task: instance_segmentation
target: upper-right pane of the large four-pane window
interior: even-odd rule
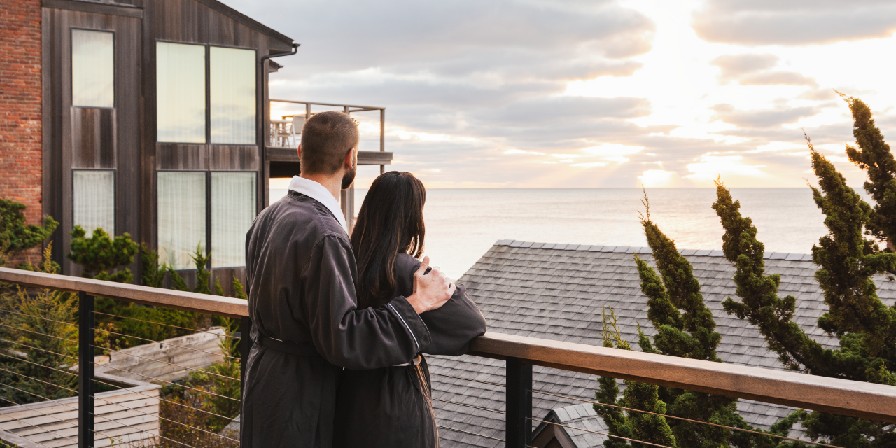
[[[255,144],[255,52],[211,47],[211,142]]]

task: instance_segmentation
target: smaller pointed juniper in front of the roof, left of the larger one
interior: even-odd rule
[[[634,255],[638,275],[641,279],[641,289],[643,294],[648,297],[647,316],[656,330],[656,335],[651,343],[639,327],[638,345],[642,351],[649,353],[721,362],[716,354],[721,336],[715,332],[716,324],[710,309],[703,302],[700,282],[694,277],[694,269],[691,263],[678,252],[675,242],[663,234],[659,227],[650,220],[650,204],[647,202],[646,194],[644,205],[647,208],[647,213],[646,216],[642,216],[642,226],[659,274],[640,256]],[[606,326],[605,323],[605,328]],[[606,334],[605,329],[604,345],[609,346]],[[618,338],[616,339],[618,340]],[[616,342],[616,346],[619,345]],[[600,378],[599,383],[599,401],[612,404],[610,400],[618,394],[616,381]],[[633,382],[626,382],[626,387],[630,387],[630,383]],[[659,393],[659,402],[663,403],[662,409],[666,411],[662,413],[677,417],[663,418],[668,422],[671,434],[674,435],[673,442],[677,446],[763,448],[777,446],[777,441],[767,435],[751,434],[687,421],[712,422],[720,426],[761,432],[761,430],[748,425],[744,418],[737,414],[736,399],[669,387],[650,387],[656,388]],[[633,404],[637,406],[638,403]],[[654,405],[654,407],[657,406]],[[635,409],[651,410],[644,407]],[[629,412],[626,416],[618,410],[609,412],[607,407],[599,405],[595,405],[595,410],[604,418],[611,431],[616,428],[617,433],[621,433],[621,429],[630,426],[628,420],[636,414]],[[771,434],[787,435],[793,425],[793,420],[791,418],[772,427]],[[657,435],[662,435],[662,433]],[[650,442],[647,439],[642,440]],[[623,445],[616,442],[606,446]]]

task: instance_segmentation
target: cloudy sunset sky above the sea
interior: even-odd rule
[[[804,132],[860,186],[835,90],[896,128],[892,0],[225,3],[302,44],[271,98],[385,107],[428,188],[805,187]]]

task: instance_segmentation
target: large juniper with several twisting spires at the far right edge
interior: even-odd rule
[[[856,107],[854,113],[865,110],[857,100],[850,106]],[[875,134],[868,130],[868,123],[873,124],[870,116],[857,115],[856,127],[861,130],[858,134]],[[860,145],[865,144],[868,151],[866,161],[870,162],[870,154],[875,154],[874,160],[880,162],[878,165],[867,163],[866,167],[886,165],[887,158],[880,153],[883,146],[875,143],[872,148],[867,144],[874,138],[866,143],[859,139]],[[896,271],[896,254],[878,249],[874,240],[863,236],[888,235],[886,223],[890,218],[884,217],[883,213],[890,212],[889,206],[879,202],[872,209],[846,185],[846,179],[833,164],[814,150],[808,137],[806,141],[812,168],[819,179],[819,186],[811,187],[814,202],[824,213],[824,224],[828,228],[828,234],[812,248],[813,262],[821,267],[815,273],[815,280],[829,309],[819,318],[818,326],[840,340],[840,349],[823,349],[792,322],[796,299],[778,297],[780,276],[764,274],[764,246],[756,238],[755,226],[749,218],[741,216],[740,203],[734,201],[728,189],[719,182],[713,209],[725,228],[723,251],[728,262],[737,267],[734,280],[737,296],[741,299],[737,302],[729,297],[723,306],[728,314],[736,314],[756,325],[769,349],[791,369],[805,370],[812,375],[896,385],[896,375],[893,374],[896,370],[896,308],[883,305],[873,280],[876,274]],[[889,159],[892,160],[892,156]],[[872,177],[872,185],[890,182],[882,181],[885,178],[883,170],[874,175],[869,171],[869,177]],[[886,198],[886,194],[882,197]],[[896,446],[896,433],[891,424],[802,410],[791,414],[790,418],[799,418],[812,440],[825,438],[831,444],[850,447]]]

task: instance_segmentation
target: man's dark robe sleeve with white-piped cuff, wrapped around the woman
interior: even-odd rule
[[[302,306],[317,352],[335,366],[363,370],[409,362],[431,343],[426,324],[405,297],[358,310],[354,255],[344,237],[327,235],[302,273]]]

